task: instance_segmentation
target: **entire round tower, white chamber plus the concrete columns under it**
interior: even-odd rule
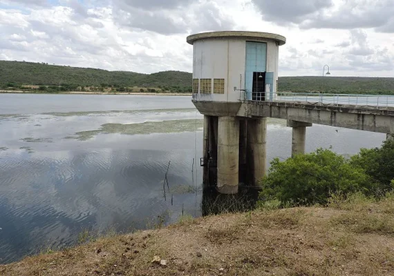
[[[204,181],[219,192],[256,186],[265,174],[265,118],[237,117],[243,101],[272,101],[279,46],[265,32],[205,32],[187,37],[194,47],[193,103],[204,119]],[[213,182],[213,183],[212,183]]]

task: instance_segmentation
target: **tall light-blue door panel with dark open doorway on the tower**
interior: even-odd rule
[[[245,68],[245,89],[247,92],[247,99],[252,100],[252,92],[265,91],[266,65],[267,43],[247,41]],[[259,94],[261,95],[261,93]]]

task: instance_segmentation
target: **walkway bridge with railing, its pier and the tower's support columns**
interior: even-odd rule
[[[266,170],[267,117],[288,121],[293,156],[305,152],[306,128],[312,124],[381,132],[388,139],[394,136],[394,96],[259,92],[252,98],[245,99],[243,92],[238,101],[209,101],[204,94],[193,95],[194,105],[205,115],[205,182],[222,177],[226,183],[235,176],[239,182],[257,184]]]

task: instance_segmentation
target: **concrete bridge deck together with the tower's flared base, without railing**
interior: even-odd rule
[[[193,102],[200,113],[210,116],[272,117],[340,128],[394,133],[394,106],[308,101]]]

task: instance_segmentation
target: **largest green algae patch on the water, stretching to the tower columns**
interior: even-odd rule
[[[142,124],[104,124],[98,130],[77,132],[73,137],[79,141],[86,141],[99,134],[147,135],[151,133],[191,132],[203,127],[203,120],[173,120],[148,121]],[[71,137],[66,137],[70,139]]]

